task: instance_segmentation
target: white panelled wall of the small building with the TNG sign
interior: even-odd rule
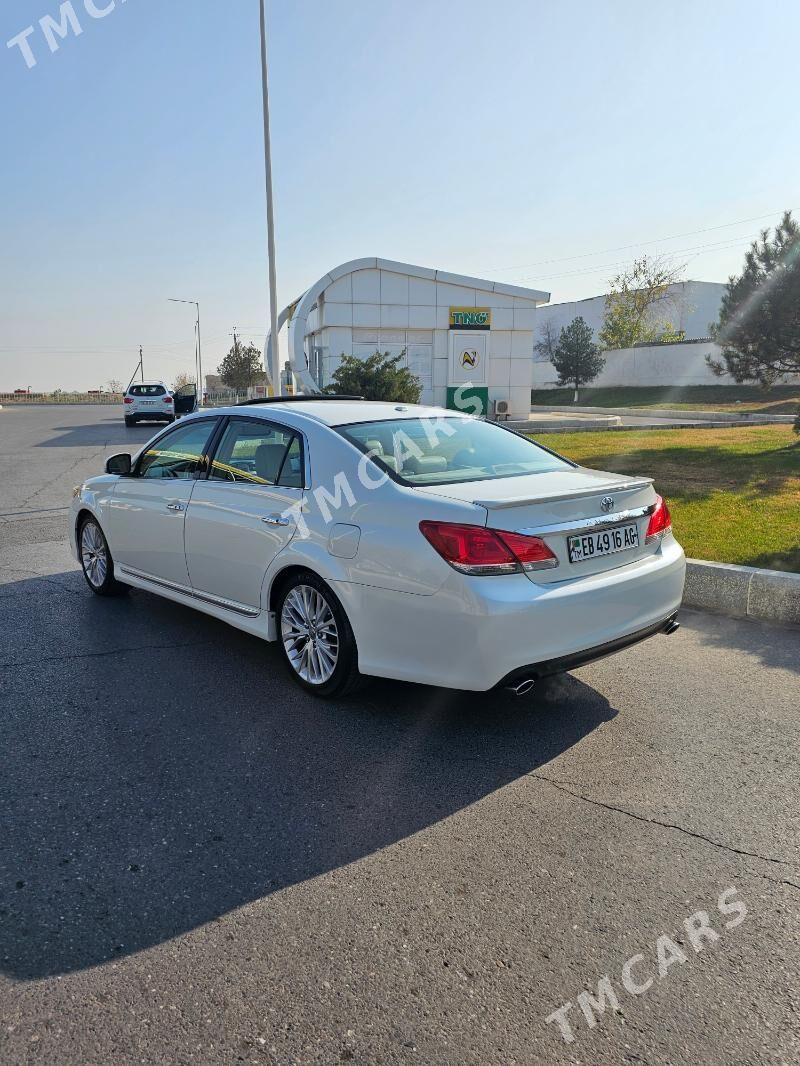
[[[423,384],[423,403],[443,405],[449,367],[449,309],[491,307],[486,384],[490,401],[509,400],[517,417],[530,410],[537,302],[476,287],[474,278],[410,276],[378,268],[355,270],[329,285],[308,316],[307,343],[322,350],[323,383],[340,356],[406,350]],[[471,281],[471,284],[470,284]],[[462,284],[459,284],[462,282]],[[518,290],[523,292],[525,290]]]

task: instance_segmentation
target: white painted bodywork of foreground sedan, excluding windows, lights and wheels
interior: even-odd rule
[[[276,579],[287,568],[311,570],[343,607],[362,674],[453,689],[514,685],[674,627],[684,552],[671,529],[645,537],[660,499],[650,479],[570,465],[497,480],[409,486],[387,477],[334,429],[464,417],[435,407],[309,398],[217,408],[181,419],[178,426],[236,417],[266,419],[302,436],[303,487],[92,478],[75,490],[71,503],[76,558],[77,532],[89,513],[125,584],[267,641],[279,635]],[[604,514],[603,501],[610,506],[609,499],[612,513]],[[531,572],[463,574],[434,550],[420,521],[541,536],[556,562]],[[569,535],[622,522],[637,526],[637,547],[570,562]]]

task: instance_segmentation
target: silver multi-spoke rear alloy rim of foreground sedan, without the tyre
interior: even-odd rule
[[[339,660],[339,631],[325,597],[295,585],[281,610],[281,639],[292,668],[309,684],[330,680]]]

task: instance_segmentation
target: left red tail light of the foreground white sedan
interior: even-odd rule
[[[558,559],[538,536],[457,522],[420,522],[419,531],[462,574],[523,574],[558,566]]]

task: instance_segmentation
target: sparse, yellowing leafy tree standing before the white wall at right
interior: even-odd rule
[[[683,340],[672,323],[659,317],[672,306],[670,286],[681,280],[683,268],[665,259],[642,256],[634,265],[609,282],[603,327],[597,335],[601,346],[633,348],[654,341]]]

